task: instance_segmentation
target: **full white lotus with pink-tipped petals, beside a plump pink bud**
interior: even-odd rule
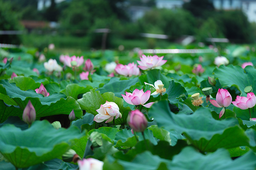
[[[122,118],[122,114],[119,112],[119,107],[114,102],[106,101],[105,104],[101,105],[99,109],[96,110],[98,114],[94,117],[95,122],[103,122],[106,119],[105,123],[113,121],[114,116],[117,118]]]

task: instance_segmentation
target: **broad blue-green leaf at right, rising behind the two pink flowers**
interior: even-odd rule
[[[242,96],[246,96],[244,92],[246,86],[251,86],[253,92],[256,93],[255,74],[256,69],[252,66],[246,67],[245,70],[240,66],[233,65],[221,65],[214,69],[214,76],[219,79],[223,88],[234,86],[241,92]]]

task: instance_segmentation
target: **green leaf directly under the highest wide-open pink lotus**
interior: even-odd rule
[[[170,77],[166,77],[163,75],[160,70],[154,69],[146,71],[146,75],[142,75],[139,77],[139,84],[145,85],[144,82],[154,85],[155,81],[161,80],[164,84],[164,88],[169,87],[169,81],[171,80]]]

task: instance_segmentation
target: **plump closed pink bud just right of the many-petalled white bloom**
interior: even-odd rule
[[[145,115],[139,110],[131,111],[127,117],[127,122],[135,132],[144,132],[148,126]]]

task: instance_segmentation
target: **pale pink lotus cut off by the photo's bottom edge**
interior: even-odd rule
[[[79,170],[102,170],[104,162],[94,158],[87,158],[77,161]]]

